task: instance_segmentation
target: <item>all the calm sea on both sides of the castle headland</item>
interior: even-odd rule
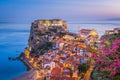
[[[18,57],[27,47],[31,23],[0,23],[0,80],[11,80],[26,72],[26,66]],[[99,36],[105,30],[120,28],[120,21],[69,21],[68,29],[78,33],[78,29],[95,29]]]

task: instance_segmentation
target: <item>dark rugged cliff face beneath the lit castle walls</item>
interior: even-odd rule
[[[31,25],[28,48],[31,53],[43,54],[52,48],[52,39],[62,37],[67,33],[68,30],[64,26],[45,26],[40,24],[39,20],[34,21]]]

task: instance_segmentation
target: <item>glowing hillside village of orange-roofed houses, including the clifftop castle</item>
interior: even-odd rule
[[[101,41],[104,39],[99,38],[96,30],[79,29],[78,34],[71,33],[67,30],[67,23],[59,19],[37,20],[32,25],[34,25],[32,26],[34,28],[32,29],[33,33],[37,29],[48,30],[49,26],[63,27],[65,31],[62,30],[64,33],[62,36],[55,33],[49,33],[51,35],[41,33],[41,36],[45,38],[43,38],[41,44],[48,40],[51,43],[48,45],[48,47],[50,46],[49,49],[37,48],[40,45],[40,37],[30,34],[28,47],[22,53],[21,59],[27,63],[27,66],[31,65],[31,70],[36,70],[37,75],[33,76],[33,79],[28,75],[28,78],[32,80],[90,80],[90,74],[94,67],[92,54],[94,51],[101,49]],[[119,31],[120,29],[116,28],[113,31],[106,31],[105,35],[111,35]],[[61,31],[57,30],[56,33],[58,32]],[[35,47],[36,53],[35,50],[32,51]],[[44,52],[44,54],[41,54],[41,52]],[[86,70],[81,71],[80,65],[85,63],[87,64]]]

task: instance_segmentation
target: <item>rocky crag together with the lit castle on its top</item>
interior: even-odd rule
[[[69,33],[67,23],[61,19],[39,19],[32,22],[28,49],[40,53],[39,49],[49,44],[53,38]],[[51,43],[50,43],[51,44]]]

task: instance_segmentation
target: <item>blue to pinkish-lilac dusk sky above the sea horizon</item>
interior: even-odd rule
[[[120,18],[120,0],[0,0],[0,21]]]

